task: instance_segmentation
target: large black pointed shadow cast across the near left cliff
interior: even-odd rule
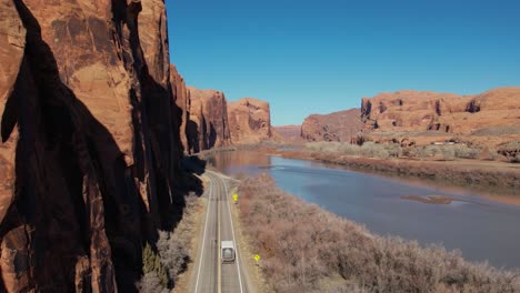
[[[61,81],[38,20],[22,1],[14,3],[27,44],[9,97],[14,107],[4,113],[7,124],[18,124],[19,141],[14,196],[0,238],[24,256],[2,263],[17,272],[2,285],[104,292],[116,281],[120,291],[134,292],[147,212],[132,168],[108,129]],[[2,129],[2,140],[11,131]]]

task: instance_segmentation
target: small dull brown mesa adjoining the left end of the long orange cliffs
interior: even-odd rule
[[[301,137],[307,141],[350,142],[362,128],[359,110],[312,114],[301,124]]]

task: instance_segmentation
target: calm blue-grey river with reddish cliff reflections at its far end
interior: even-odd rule
[[[448,250],[461,250],[468,260],[520,267],[518,205],[496,202],[464,189],[331,169],[318,162],[253,151],[218,153],[210,163],[230,175],[269,173],[284,191],[364,224],[378,234],[399,235],[422,244],[442,243]]]

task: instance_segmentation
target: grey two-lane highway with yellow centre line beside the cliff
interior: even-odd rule
[[[209,181],[203,195],[208,199],[208,205],[191,282],[192,292],[251,292],[244,277],[240,245],[231,219],[231,181],[211,171],[207,171],[204,176]],[[234,263],[222,264],[220,259],[220,243],[226,240],[234,242]]]

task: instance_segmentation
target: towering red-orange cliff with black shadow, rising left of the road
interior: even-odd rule
[[[0,0],[0,292],[134,292],[182,209],[163,1]]]

